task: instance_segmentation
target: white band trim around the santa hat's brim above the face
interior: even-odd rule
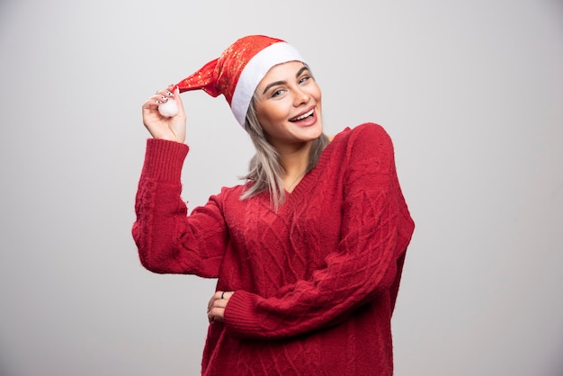
[[[288,61],[302,61],[305,63],[297,49],[289,43],[281,41],[261,50],[246,63],[245,68],[238,77],[237,87],[235,87],[231,103],[231,111],[243,128],[246,129],[246,112],[248,111],[250,100],[255,94],[256,86],[260,84],[260,81],[266,76],[271,67],[287,63]]]

